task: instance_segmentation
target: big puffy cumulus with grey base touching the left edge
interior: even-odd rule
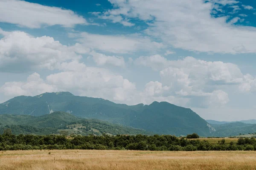
[[[5,32],[0,39],[0,70],[29,71],[41,68],[55,69],[62,62],[81,59],[77,53],[86,50],[79,44],[62,45],[52,37],[32,37],[20,31]]]

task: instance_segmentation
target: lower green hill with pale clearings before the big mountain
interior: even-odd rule
[[[71,133],[81,135],[102,135],[103,133],[111,135],[153,134],[142,129],[114,125],[97,119],[82,119],[65,112],[54,112],[38,117],[29,115],[0,115],[0,133],[3,133],[3,130],[6,128],[11,128],[12,132],[16,135],[58,133],[66,135]]]

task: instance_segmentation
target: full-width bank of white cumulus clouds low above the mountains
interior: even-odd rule
[[[107,63],[104,59],[102,61]],[[139,57],[133,62],[159,71],[161,80],[150,81],[138,91],[134,82],[119,74],[105,68],[87,67],[74,60],[57,65],[61,72],[50,74],[46,79],[34,73],[24,82],[6,82],[0,87],[0,92],[13,97],[70,91],[129,105],[167,101],[185,107],[207,108],[229,102],[227,92],[222,89],[224,85],[237,85],[241,91],[256,89],[255,78],[244,76],[231,63],[206,62],[193,57],[168,60],[159,55]]]

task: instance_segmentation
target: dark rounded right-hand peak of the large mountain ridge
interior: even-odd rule
[[[148,123],[150,122],[150,123]],[[156,133],[186,135],[198,133],[209,136],[207,122],[189,108],[182,108],[168,102],[153,102],[132,119],[131,126]]]

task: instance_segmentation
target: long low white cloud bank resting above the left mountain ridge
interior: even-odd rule
[[[81,71],[63,71],[41,79],[38,73],[23,82],[6,82],[0,93],[14,97],[35,96],[45,92],[70,91],[81,96],[100,97],[119,103],[134,104],[136,86],[128,79],[103,68],[86,67]]]

